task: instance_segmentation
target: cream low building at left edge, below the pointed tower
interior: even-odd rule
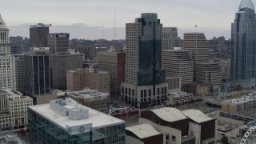
[[[2,89],[0,91],[0,130],[10,130],[26,127],[27,107],[33,105],[32,98],[22,96],[17,91]]]

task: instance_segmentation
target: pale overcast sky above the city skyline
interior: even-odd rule
[[[252,0],[255,4],[256,0]],[[10,36],[30,37],[30,26],[52,24],[50,33],[70,38],[125,39],[126,23],[142,13],[157,13],[165,27],[178,27],[178,36],[197,31],[230,38],[230,26],[241,0],[7,0],[0,14]],[[115,18],[114,18],[115,17]],[[114,21],[115,19],[115,21]],[[114,37],[114,24],[116,27]],[[104,27],[104,28],[102,28]]]

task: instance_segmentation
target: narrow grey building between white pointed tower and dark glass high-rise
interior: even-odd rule
[[[16,90],[25,90],[25,55],[15,54]]]

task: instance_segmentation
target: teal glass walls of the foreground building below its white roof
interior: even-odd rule
[[[28,109],[30,143],[50,144],[125,144],[125,124],[91,128],[92,124],[64,130],[58,124]]]

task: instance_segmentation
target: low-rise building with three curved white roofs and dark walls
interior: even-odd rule
[[[180,111],[172,107],[145,110],[138,118],[137,126],[126,127],[126,142],[211,144],[216,142],[215,126],[215,119],[199,110]],[[154,142],[156,139],[159,141]]]

